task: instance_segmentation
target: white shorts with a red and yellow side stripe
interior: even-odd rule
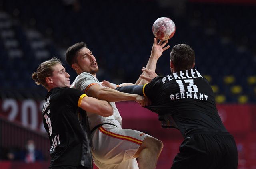
[[[116,124],[115,124],[116,125]],[[92,133],[92,157],[99,169],[138,169],[133,157],[149,136],[143,132],[104,124]]]

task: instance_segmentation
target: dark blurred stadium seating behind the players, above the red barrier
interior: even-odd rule
[[[211,85],[226,96],[225,102],[238,102],[232,98],[231,85],[226,87],[230,82],[222,81],[226,77],[234,77],[234,85],[245,89],[241,94],[248,97],[247,102],[255,101],[250,94],[252,85],[246,82],[256,71],[255,23],[251,18],[255,6],[186,2],[182,16],[172,8],[156,6],[155,1],[95,0],[81,1],[80,10],[74,10],[61,0],[4,0],[0,13],[0,78],[5,82],[1,96],[18,97],[17,92],[25,98],[44,96],[38,94],[37,89],[42,88],[34,85],[31,73],[41,61],[53,56],[64,61],[64,51],[79,41],[88,43],[94,52],[101,70],[98,79],[135,82],[150,54],[152,23],[167,16],[176,24],[169,44],[187,43],[194,48],[196,69],[211,77]],[[159,60],[156,71],[160,75],[170,72],[168,56],[169,51]],[[74,71],[66,67],[74,79]],[[14,88],[17,91],[12,95]]]

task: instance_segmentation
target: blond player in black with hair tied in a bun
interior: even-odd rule
[[[103,100],[87,97],[70,87],[70,75],[58,58],[41,63],[32,78],[43,85],[48,94],[42,116],[51,149],[50,169],[90,169],[90,129],[85,111],[101,116],[113,114],[113,108]]]

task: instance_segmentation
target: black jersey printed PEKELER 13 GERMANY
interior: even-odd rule
[[[156,77],[143,93],[152,100],[147,108],[158,113],[165,128],[178,128],[183,136],[197,128],[226,132],[212,88],[196,69]]]

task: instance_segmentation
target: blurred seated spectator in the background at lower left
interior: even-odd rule
[[[18,158],[26,163],[44,160],[42,152],[36,149],[35,141],[32,139],[26,141],[25,150],[20,151]]]

